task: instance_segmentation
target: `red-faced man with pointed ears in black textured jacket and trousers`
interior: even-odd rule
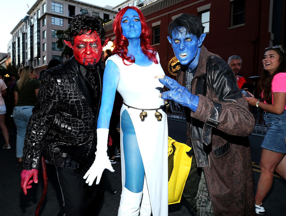
[[[104,71],[100,58],[108,41],[104,36],[97,17],[88,13],[74,16],[70,41],[65,41],[74,56],[42,74],[27,127],[21,188],[27,194],[32,182],[38,183],[44,156],[56,166],[63,199],[59,215],[95,215],[102,200],[103,180],[90,187],[83,175],[95,158]]]

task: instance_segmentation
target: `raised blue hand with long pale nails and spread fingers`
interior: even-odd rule
[[[197,95],[190,93],[186,87],[181,86],[170,77],[165,76],[164,78],[159,79],[159,81],[170,89],[170,91],[163,92],[161,98],[173,100],[190,108],[194,112],[197,110],[199,104],[199,97]]]

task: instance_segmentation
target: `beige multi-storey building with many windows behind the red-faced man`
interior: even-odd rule
[[[45,70],[49,61],[66,59],[57,48],[57,30],[66,30],[74,15],[89,12],[100,18],[114,19],[117,10],[75,0],[38,0],[27,15],[15,26],[12,38],[12,64],[31,65],[37,74]]]

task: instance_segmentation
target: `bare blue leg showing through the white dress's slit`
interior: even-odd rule
[[[121,128],[125,160],[125,187],[131,192],[138,193],[143,190],[145,171],[135,130],[127,110],[122,112]]]

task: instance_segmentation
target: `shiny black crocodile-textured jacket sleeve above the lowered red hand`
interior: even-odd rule
[[[44,73],[41,78],[41,88],[25,136],[24,170],[38,169],[44,149],[44,137],[52,124],[59,100],[59,88],[55,77],[50,73]]]

